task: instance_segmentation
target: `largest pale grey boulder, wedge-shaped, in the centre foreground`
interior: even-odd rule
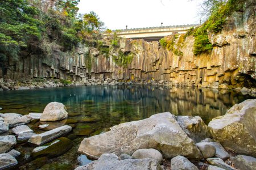
[[[200,150],[180,128],[171,113],[159,113],[141,121],[127,122],[111,128],[111,131],[85,138],[79,152],[92,158],[106,153],[132,155],[141,148],[155,148],[165,158],[183,155],[200,159]]]

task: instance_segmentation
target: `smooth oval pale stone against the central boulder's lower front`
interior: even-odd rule
[[[163,156],[162,154],[153,148],[148,148],[148,149],[139,149],[131,155],[131,158],[133,159],[144,159],[144,158],[151,158],[156,160],[159,163],[162,163],[163,161]]]

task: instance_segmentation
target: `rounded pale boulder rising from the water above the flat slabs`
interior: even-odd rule
[[[62,103],[51,102],[44,108],[40,121],[59,121],[68,117],[66,107]]]

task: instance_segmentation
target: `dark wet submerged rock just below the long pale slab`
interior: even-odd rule
[[[43,146],[34,148],[34,150],[32,151],[32,157],[37,158],[37,157],[46,156],[47,158],[54,158],[64,154],[72,146],[73,146],[73,143],[70,139],[62,137],[62,138],[56,139],[53,142],[46,143]]]

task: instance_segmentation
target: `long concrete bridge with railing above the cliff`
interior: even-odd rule
[[[126,39],[144,39],[145,41],[159,41],[164,36],[171,35],[172,32],[185,33],[188,31],[189,28],[197,26],[199,26],[199,24],[121,29],[121,31],[117,32],[117,35]]]

